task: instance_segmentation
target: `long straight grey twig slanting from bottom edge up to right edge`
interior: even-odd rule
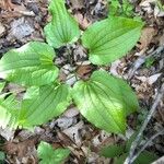
[[[143,122],[143,125],[141,126],[141,129],[140,129],[138,136],[136,137],[136,140],[131,143],[131,148],[130,148],[130,151],[129,151],[129,155],[128,155],[128,157],[126,159],[126,161],[125,161],[124,164],[131,164],[131,163],[132,163],[131,160],[132,160],[133,154],[134,154],[134,151],[136,151],[136,149],[137,149],[137,147],[138,147],[138,144],[139,144],[139,142],[140,142],[141,136],[142,136],[144,129],[147,128],[147,125],[148,125],[148,122],[150,121],[151,117],[153,116],[153,114],[154,114],[154,112],[155,112],[155,109],[156,109],[156,107],[157,107],[157,105],[159,105],[161,98],[163,97],[163,95],[164,95],[164,83],[162,84],[162,87],[161,87],[159,94],[157,94],[156,97],[155,97],[155,101],[154,101],[154,103],[153,103],[153,105],[152,105],[152,108],[150,109],[150,112],[149,112],[149,114],[148,114],[147,119],[144,120],[144,122]]]

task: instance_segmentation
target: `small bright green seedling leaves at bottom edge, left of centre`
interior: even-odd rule
[[[49,143],[40,142],[37,148],[37,154],[39,164],[62,164],[63,161],[69,156],[69,149],[52,149]]]

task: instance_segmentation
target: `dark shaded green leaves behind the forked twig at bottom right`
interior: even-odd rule
[[[137,133],[132,134],[131,138],[124,144],[112,144],[104,147],[101,150],[99,155],[114,159],[115,164],[124,164],[136,136]],[[157,155],[149,151],[143,151],[133,162],[133,164],[150,164],[155,160],[157,160]]]

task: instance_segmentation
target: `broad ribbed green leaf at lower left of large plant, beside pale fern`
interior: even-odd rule
[[[70,87],[66,84],[32,87],[22,102],[20,126],[33,128],[62,114],[70,105]]]

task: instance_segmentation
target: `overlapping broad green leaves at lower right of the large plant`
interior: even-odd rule
[[[105,71],[95,71],[89,81],[77,82],[72,97],[89,121],[108,132],[125,132],[126,115],[138,108],[131,89]]]

